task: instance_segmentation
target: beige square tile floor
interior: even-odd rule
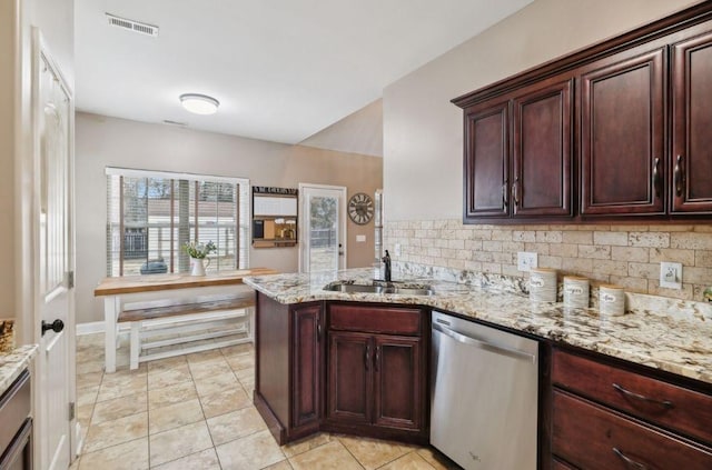
[[[254,364],[240,344],[103,373],[103,334],[78,337],[85,443],[72,469],[456,468],[428,448],[340,434],[279,447],[253,406]]]

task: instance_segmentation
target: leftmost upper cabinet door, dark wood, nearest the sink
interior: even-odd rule
[[[465,221],[508,214],[508,101],[465,111]]]

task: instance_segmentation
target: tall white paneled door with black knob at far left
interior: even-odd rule
[[[40,468],[67,469],[70,460],[70,378],[73,370],[71,96],[36,32],[33,120],[37,196],[38,393],[36,427]]]

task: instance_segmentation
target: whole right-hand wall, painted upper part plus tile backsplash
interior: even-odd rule
[[[518,276],[540,266],[630,290],[702,300],[712,284],[709,226],[464,226],[462,110],[451,99],[698,1],[536,0],[392,83],[384,92],[386,248],[399,260]],[[394,253],[395,250],[390,252]],[[660,261],[683,262],[683,290],[661,291]]]

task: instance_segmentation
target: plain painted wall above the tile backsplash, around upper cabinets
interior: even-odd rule
[[[462,217],[462,110],[451,99],[693,3],[536,0],[388,86],[383,99],[387,219]]]

